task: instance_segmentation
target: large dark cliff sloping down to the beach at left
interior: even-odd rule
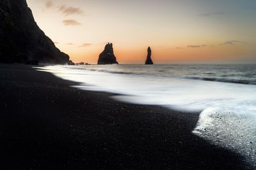
[[[26,0],[0,0],[0,62],[66,64],[61,52],[36,24]]]

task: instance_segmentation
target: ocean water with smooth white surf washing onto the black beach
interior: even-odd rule
[[[256,65],[156,64],[36,67],[118,101],[200,111],[193,133],[256,168]]]

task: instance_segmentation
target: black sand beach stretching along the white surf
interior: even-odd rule
[[[245,169],[191,133],[199,113],[125,104],[30,66],[0,65],[0,169]]]

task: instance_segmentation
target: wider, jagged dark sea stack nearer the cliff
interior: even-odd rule
[[[118,64],[114,55],[113,44],[108,43],[105,49],[100,53],[98,64]]]

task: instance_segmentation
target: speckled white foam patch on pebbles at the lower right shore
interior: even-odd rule
[[[256,168],[256,119],[254,115],[207,108],[200,114],[193,133],[213,144],[243,155]]]

